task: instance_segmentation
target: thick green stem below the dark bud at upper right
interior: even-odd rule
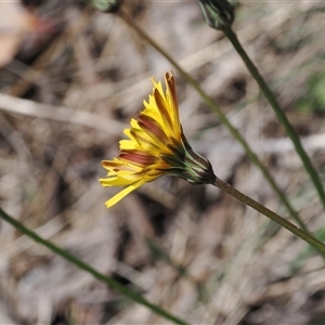
[[[233,29],[231,27],[225,26],[225,27],[222,28],[222,30],[223,30],[224,35],[226,36],[226,38],[231,41],[231,43],[233,44],[233,47],[235,48],[237,53],[243,58],[243,61],[246,64],[249,73],[255,78],[255,80],[258,82],[258,84],[259,84],[261,91],[263,92],[265,99],[268,100],[270,105],[273,107],[274,113],[276,115],[276,118],[282,123],[282,126],[285,128],[288,136],[291,139],[291,141],[292,141],[292,143],[296,147],[296,152],[300,156],[300,158],[302,160],[302,164],[303,164],[307,172],[309,173],[309,176],[310,176],[310,178],[311,178],[311,180],[312,180],[312,182],[313,182],[313,184],[314,184],[314,186],[315,186],[315,188],[318,193],[320,199],[321,199],[321,202],[323,204],[323,207],[324,207],[324,210],[325,210],[325,192],[324,192],[321,179],[318,177],[318,173],[315,170],[315,168],[313,167],[313,165],[312,165],[309,156],[307,155],[306,151],[303,150],[303,146],[301,145],[300,139],[299,139],[298,134],[296,133],[295,129],[292,128],[291,123],[289,122],[285,112],[281,108],[277,100],[275,99],[274,94],[272,93],[269,86],[264,81],[263,77],[260,75],[258,68],[255,66],[252,61],[247,55],[246,51],[242,47],[242,44],[238,41],[238,38],[237,38],[236,34],[233,31]]]

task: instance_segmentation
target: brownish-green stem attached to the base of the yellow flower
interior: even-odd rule
[[[273,220],[277,224],[280,224],[281,226],[287,229],[289,232],[291,232],[296,236],[298,236],[301,239],[303,239],[304,242],[309,243],[311,246],[313,246],[315,249],[317,249],[322,253],[323,257],[325,257],[325,245],[322,242],[320,242],[318,239],[316,239],[315,237],[313,237],[312,235],[310,235],[308,232],[297,227],[291,222],[287,221],[286,219],[282,218],[281,216],[276,214],[275,212],[265,208],[264,206],[262,206],[255,199],[246,196],[245,194],[237,191],[236,188],[234,188],[230,184],[223,182],[222,180],[220,180],[217,177],[216,177],[216,182],[213,183],[213,185],[217,186],[218,188],[220,188],[221,191],[230,194],[231,196],[237,198],[245,205],[250,206],[258,212],[270,218],[271,220]]]

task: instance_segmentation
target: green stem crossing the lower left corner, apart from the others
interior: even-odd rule
[[[47,248],[49,248],[50,250],[52,250],[56,255],[61,256],[63,259],[67,260],[72,264],[75,264],[79,269],[92,274],[99,281],[101,281],[101,282],[107,284],[109,287],[120,291],[122,295],[127,296],[128,298],[132,299],[133,301],[147,307],[154,313],[165,317],[166,320],[169,320],[169,321],[173,322],[174,324],[187,325],[187,323],[185,321],[180,320],[180,318],[173,316],[172,314],[170,314],[169,312],[165,311],[160,307],[151,303],[145,298],[143,298],[141,295],[133,292],[132,290],[128,289],[123,285],[119,284],[114,278],[108,277],[108,276],[104,275],[103,273],[100,273],[99,271],[96,271],[95,269],[90,266],[89,264],[87,264],[83,261],[76,258],[74,255],[67,252],[66,250],[60,248],[58,246],[54,245],[51,242],[49,242],[47,239],[43,239],[42,237],[40,237],[35,232],[27,229],[23,223],[21,223],[20,221],[15,220],[12,217],[10,217],[9,214],[6,214],[1,208],[0,208],[0,218],[5,220],[6,222],[9,222],[11,225],[13,225],[21,233],[23,233],[26,236],[30,237],[35,242],[46,246]]]

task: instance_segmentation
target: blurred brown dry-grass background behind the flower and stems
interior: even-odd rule
[[[195,1],[121,9],[222,107],[309,229],[325,213],[300,159],[223,34]],[[234,29],[325,179],[325,5],[239,1]],[[324,259],[212,186],[164,177],[110,209],[102,159],[171,64],[117,14],[0,2],[0,203],[11,216],[192,324],[324,324]],[[184,132],[216,174],[287,216],[242,147],[176,74]],[[0,223],[1,324],[167,324]]]

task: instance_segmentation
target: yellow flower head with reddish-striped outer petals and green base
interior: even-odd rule
[[[154,89],[148,102],[143,101],[144,110],[123,131],[129,139],[120,141],[119,156],[102,161],[108,171],[106,179],[100,179],[102,185],[127,186],[105,203],[107,208],[164,174],[195,184],[213,183],[216,179],[210,162],[192,150],[183,134],[172,73],[165,75],[166,92],[160,81],[152,81]]]

